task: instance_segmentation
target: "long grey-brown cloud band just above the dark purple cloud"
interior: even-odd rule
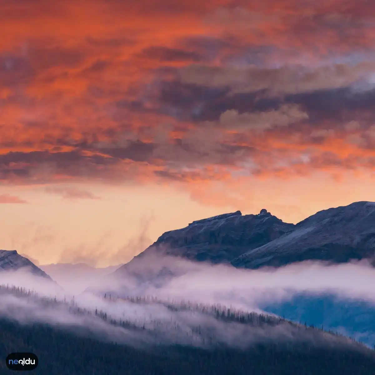
[[[335,64],[317,68],[287,65],[281,68],[189,65],[178,71],[183,83],[229,87],[232,94],[265,92],[268,96],[339,89],[369,79],[374,63]]]

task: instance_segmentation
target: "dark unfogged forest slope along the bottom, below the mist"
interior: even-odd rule
[[[100,342],[66,330],[0,320],[2,353],[37,353],[39,375],[374,375],[372,351],[256,345],[249,350],[170,346],[155,350]],[[9,374],[5,361],[0,374]]]

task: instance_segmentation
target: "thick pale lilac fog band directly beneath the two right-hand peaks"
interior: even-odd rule
[[[169,275],[166,270],[170,277],[158,276]],[[375,294],[367,282],[375,278],[375,270],[366,261],[339,265],[306,261],[280,268],[246,270],[155,254],[139,257],[129,267],[123,266],[122,274],[120,271],[116,272],[117,283],[112,284],[111,279],[107,285],[97,284],[97,288],[112,288],[114,293],[156,293],[163,298],[200,303],[220,302],[239,309],[257,309],[260,303],[288,300],[299,293],[332,292],[375,303]],[[139,284],[138,274],[155,284]]]

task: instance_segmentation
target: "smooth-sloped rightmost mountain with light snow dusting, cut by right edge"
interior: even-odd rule
[[[305,260],[373,260],[374,255],[375,202],[361,201],[319,211],[297,223],[290,233],[249,249],[231,263],[256,269]]]

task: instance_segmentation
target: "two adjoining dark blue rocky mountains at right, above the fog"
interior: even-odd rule
[[[185,228],[163,233],[116,273],[131,269],[151,254],[249,269],[306,260],[373,261],[375,203],[361,201],[329,208],[296,225],[283,222],[265,209],[259,214],[236,211],[196,220]]]

